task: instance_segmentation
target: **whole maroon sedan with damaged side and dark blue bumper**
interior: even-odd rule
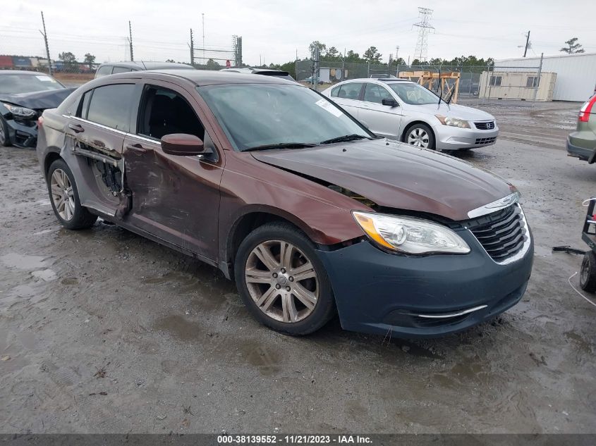
[[[516,188],[376,137],[279,78],[144,71],[89,82],[40,118],[66,228],[98,216],[217,266],[293,335],[436,336],[521,299],[533,241]]]

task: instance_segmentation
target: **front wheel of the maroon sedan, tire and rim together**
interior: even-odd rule
[[[308,335],[334,315],[332,288],[314,245],[289,223],[253,230],[238,249],[234,275],[250,314],[274,330]]]

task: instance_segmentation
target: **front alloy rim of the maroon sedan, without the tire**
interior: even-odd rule
[[[245,280],[257,308],[276,321],[302,321],[319,299],[315,266],[298,247],[283,240],[262,242],[250,252]]]

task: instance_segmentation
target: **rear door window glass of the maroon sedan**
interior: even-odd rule
[[[87,120],[128,132],[134,90],[134,84],[97,87],[89,101]]]

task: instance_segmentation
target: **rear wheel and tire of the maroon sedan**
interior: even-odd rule
[[[73,173],[62,159],[51,163],[46,182],[51,208],[64,228],[86,229],[95,223],[97,216],[81,206]]]

